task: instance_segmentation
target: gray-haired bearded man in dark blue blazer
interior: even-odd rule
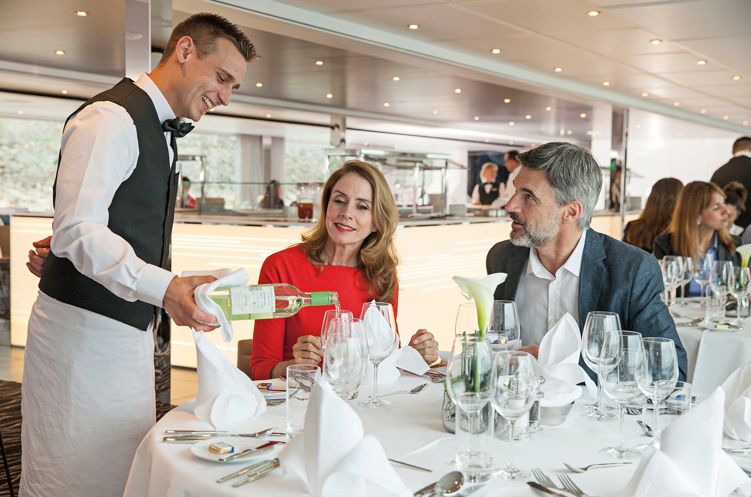
[[[520,154],[519,162],[516,193],[506,204],[511,239],[490,248],[486,267],[508,275],[495,298],[517,303],[524,350],[536,356],[544,334],[567,312],[580,329],[589,312],[617,312],[623,330],[673,339],[685,380],[686,351],[660,300],[656,259],[590,229],[602,188],[592,153],[552,142]]]

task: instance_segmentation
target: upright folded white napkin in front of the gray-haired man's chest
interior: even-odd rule
[[[571,404],[581,397],[581,388],[577,384],[582,381],[590,395],[597,395],[595,382],[579,366],[579,354],[581,332],[575,319],[566,312],[540,342],[538,373],[545,377],[545,383],[540,388],[545,396],[540,399],[540,405],[559,407]]]

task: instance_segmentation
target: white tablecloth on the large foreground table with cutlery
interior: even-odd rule
[[[379,386],[381,393],[406,390],[427,382],[427,387],[418,394],[388,396],[393,402],[391,408],[369,410],[355,408],[363,420],[366,433],[376,435],[385,453],[392,459],[430,468],[432,473],[415,471],[395,465],[398,474],[412,490],[436,481],[450,471],[447,462],[454,455],[454,435],[443,429],[441,407],[443,384],[433,384],[414,375],[402,375],[391,385]],[[360,399],[367,396],[372,387],[360,387]],[[575,465],[589,465],[597,462],[614,462],[602,456],[602,447],[614,445],[618,440],[618,423],[597,423],[581,418],[581,406],[590,402],[588,396],[579,399],[566,422],[559,426],[543,426],[544,433],[532,438],[528,443],[517,444],[515,462],[517,467],[529,470],[542,468],[553,479],[556,474],[566,473],[591,495],[617,495],[631,477],[635,465],[615,468],[597,468],[584,474],[572,474],[562,462]],[[231,484],[216,483],[219,477],[237,471],[248,464],[219,464],[193,456],[188,444],[164,444],[161,438],[166,429],[207,429],[192,414],[193,403],[187,402],[170,411],[153,427],[140,445],[128,479],[129,497],[205,497],[206,495],[271,495],[273,497],[298,497],[306,495],[303,487],[294,476],[286,476],[277,468],[259,480],[245,486],[233,488]],[[644,419],[651,422],[651,414],[627,416],[624,425],[627,444],[650,441],[635,422]],[[235,426],[232,431],[256,432],[270,426],[284,431],[285,405],[269,408],[258,419]],[[500,431],[500,430],[498,430]],[[283,439],[271,437],[270,439]],[[494,465],[502,468],[508,462],[508,442],[496,438]],[[275,456],[272,454],[271,457]],[[474,495],[481,497],[491,489],[501,486],[517,486],[526,495],[526,484],[505,480],[490,480]],[[523,489],[523,490],[522,490]]]

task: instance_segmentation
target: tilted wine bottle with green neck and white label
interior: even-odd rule
[[[335,291],[299,291],[288,283],[218,287],[209,298],[228,319],[289,318],[306,306],[339,306]]]

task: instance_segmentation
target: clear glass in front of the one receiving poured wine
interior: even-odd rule
[[[338,318],[332,321],[324,352],[323,375],[331,390],[345,402],[360,387],[367,364],[363,348],[362,321]]]

